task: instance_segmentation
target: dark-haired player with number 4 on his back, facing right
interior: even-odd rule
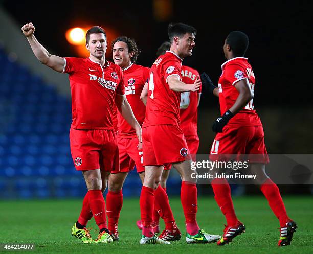
[[[173,163],[183,181],[181,201],[186,218],[187,243],[210,243],[220,239],[220,236],[205,233],[197,224],[196,179],[191,177],[191,156],[180,128],[180,93],[198,91],[201,83],[198,77],[192,85],[181,81],[182,61],[192,54],[196,29],[182,23],[170,24],[168,35],[171,48],[155,60],[149,74],[143,124],[145,178],[140,196],[143,224],[140,243],[155,243],[152,230],[154,193],[159,186],[164,165],[168,163]],[[164,193],[163,202],[168,203]]]

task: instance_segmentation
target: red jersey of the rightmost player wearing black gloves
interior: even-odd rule
[[[222,64],[222,74],[218,80],[219,105],[221,116],[235,103],[239,92],[235,88],[236,82],[247,79],[253,91],[255,76],[248,58],[235,57]],[[240,110],[227,124],[232,128],[240,126],[262,126],[261,120],[254,110],[253,99]]]

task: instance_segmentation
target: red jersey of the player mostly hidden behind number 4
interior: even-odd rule
[[[197,76],[200,77],[197,70],[188,66],[182,66],[182,81],[186,84],[193,84]],[[184,136],[197,136],[198,123],[198,100],[201,95],[202,86],[196,92],[186,91],[181,93],[181,128]]]

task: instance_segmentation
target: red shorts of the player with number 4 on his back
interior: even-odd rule
[[[144,127],[142,147],[144,166],[161,166],[191,159],[185,136],[176,125]]]

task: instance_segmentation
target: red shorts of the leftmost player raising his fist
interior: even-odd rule
[[[119,170],[119,149],[114,130],[70,130],[76,170]]]

